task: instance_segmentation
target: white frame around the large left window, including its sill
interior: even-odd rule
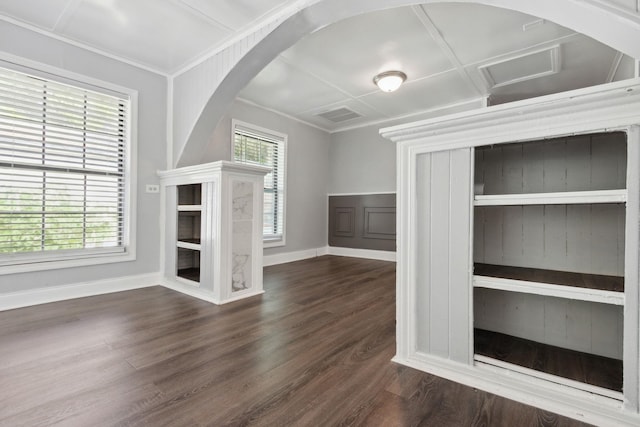
[[[35,77],[128,98],[127,129],[124,145],[123,233],[122,245],[114,248],[52,250],[0,254],[0,276],[60,268],[134,261],[136,259],[136,185],[138,92],[114,83],[60,69],[25,58],[0,54],[0,67]]]

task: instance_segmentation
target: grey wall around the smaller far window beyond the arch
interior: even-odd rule
[[[202,162],[231,160],[231,120],[287,134],[286,246],[265,255],[327,245],[327,180],[330,135],[262,108],[236,101],[216,127]]]

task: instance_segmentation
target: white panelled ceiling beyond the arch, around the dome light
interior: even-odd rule
[[[430,4],[357,16],[309,35],[239,96],[333,132],[428,117],[485,96],[495,104],[601,84],[619,61],[615,50],[536,17]],[[394,93],[377,90],[373,76],[393,69],[407,82]],[[334,123],[318,116],[343,107],[362,117]]]

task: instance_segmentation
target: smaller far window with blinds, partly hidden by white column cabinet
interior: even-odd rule
[[[234,121],[233,159],[271,168],[264,177],[265,243],[284,243],[286,135]]]

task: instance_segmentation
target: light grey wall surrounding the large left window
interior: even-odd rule
[[[137,259],[0,276],[0,294],[153,273],[160,270],[160,196],[146,194],[166,165],[167,80],[122,62],[0,21],[0,55],[13,55],[138,91]]]

